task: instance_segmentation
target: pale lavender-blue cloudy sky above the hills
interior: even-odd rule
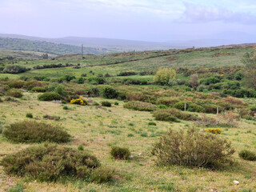
[[[150,42],[254,41],[256,1],[0,0],[0,33]]]

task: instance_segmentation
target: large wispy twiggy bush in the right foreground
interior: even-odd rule
[[[169,130],[154,145],[152,153],[163,165],[218,168],[230,162],[234,149],[230,142],[214,134],[190,128],[186,133]]]

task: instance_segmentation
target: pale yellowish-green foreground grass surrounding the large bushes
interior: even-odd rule
[[[150,130],[157,129],[154,133],[164,133],[168,129],[186,129],[191,122],[157,122],[157,127],[148,126],[153,120],[150,112],[131,111],[123,108],[123,102],[109,110],[97,108],[96,106],[66,106],[73,110],[63,110],[61,104],[55,102],[39,102],[38,94],[24,93],[22,100],[16,102],[3,102],[0,105],[0,117],[2,125],[21,121],[27,113],[33,109],[35,118],[42,122],[49,122],[42,118],[46,113],[50,115],[61,115],[59,122],[50,121],[54,125],[63,126],[74,139],[65,144],[74,149],[83,146],[89,150],[102,164],[112,167],[122,173],[121,178],[112,185],[87,183],[82,181],[62,183],[40,183],[25,182],[22,178],[9,178],[0,168],[0,190],[7,190],[15,183],[24,183],[26,191],[190,191],[198,187],[198,191],[208,188],[216,188],[219,191],[231,191],[242,189],[254,189],[256,184],[253,179],[246,178],[250,174],[254,177],[255,162],[246,162],[238,158],[238,151],[243,149],[256,149],[254,142],[254,125],[241,122],[238,128],[224,130],[221,137],[228,138],[233,142],[237,150],[234,157],[238,164],[228,167],[226,170],[212,171],[206,169],[190,169],[180,166],[156,166],[154,157],[150,154],[152,145],[158,141],[159,135],[150,137]],[[93,98],[95,102],[102,102],[102,98]],[[105,99],[104,99],[105,100]],[[109,100],[114,102],[115,100]],[[15,109],[15,110],[14,110]],[[133,125],[133,126],[129,126]],[[251,134],[246,132],[251,130]],[[240,133],[235,135],[238,131]],[[117,134],[118,133],[118,134]],[[145,137],[147,133],[148,137]],[[133,137],[127,137],[132,134]],[[131,151],[133,159],[127,161],[114,161],[110,156],[111,146],[122,144]],[[14,144],[6,141],[0,134],[0,158],[4,154],[17,152],[26,148],[27,144]],[[214,178],[214,179],[213,179]],[[233,186],[233,180],[240,182],[239,186]],[[10,182],[8,182],[10,181]],[[184,184],[186,182],[186,185]]]

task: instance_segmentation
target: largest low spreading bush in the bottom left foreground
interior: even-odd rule
[[[6,174],[27,176],[39,182],[56,182],[65,178],[94,178],[92,173],[100,166],[100,162],[85,151],[42,144],[7,155],[1,165]]]

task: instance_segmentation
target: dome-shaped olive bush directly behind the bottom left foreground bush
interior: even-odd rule
[[[69,142],[70,134],[60,126],[23,121],[6,126],[2,134],[13,142]]]

